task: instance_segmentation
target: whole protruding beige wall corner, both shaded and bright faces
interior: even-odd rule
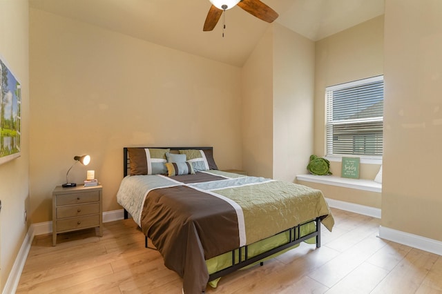
[[[313,144],[314,42],[274,23],[242,68],[243,166],[293,182]]]

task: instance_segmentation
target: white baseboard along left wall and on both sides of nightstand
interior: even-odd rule
[[[113,210],[106,211],[103,213],[103,222],[113,222],[119,219],[124,219],[124,210]],[[31,224],[28,233],[26,233],[23,239],[23,244],[21,244],[20,251],[15,258],[15,262],[12,265],[11,272],[9,273],[8,280],[6,281],[5,287],[3,288],[2,294],[15,293],[17,286],[20,281],[21,272],[25,266],[26,257],[30,250],[32,240],[37,235],[44,235],[52,233],[52,222],[40,222],[38,224]]]

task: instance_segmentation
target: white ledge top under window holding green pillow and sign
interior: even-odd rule
[[[345,177],[335,177],[332,175],[297,175],[296,179],[299,181],[367,190],[377,193],[382,192],[382,184],[370,179],[347,179]]]

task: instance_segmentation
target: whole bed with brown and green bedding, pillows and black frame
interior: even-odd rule
[[[300,242],[319,248],[321,223],[334,226],[320,190],[223,172],[211,147],[123,151],[117,202],[182,277],[185,294]]]

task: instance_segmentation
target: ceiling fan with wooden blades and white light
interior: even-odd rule
[[[269,6],[262,3],[260,0],[209,0],[212,3],[209,13],[207,14],[206,21],[204,22],[203,31],[213,30],[216,24],[220,20],[222,12],[235,7],[236,5],[246,10],[250,14],[258,19],[273,22],[278,18],[278,13],[275,10],[269,8]]]

